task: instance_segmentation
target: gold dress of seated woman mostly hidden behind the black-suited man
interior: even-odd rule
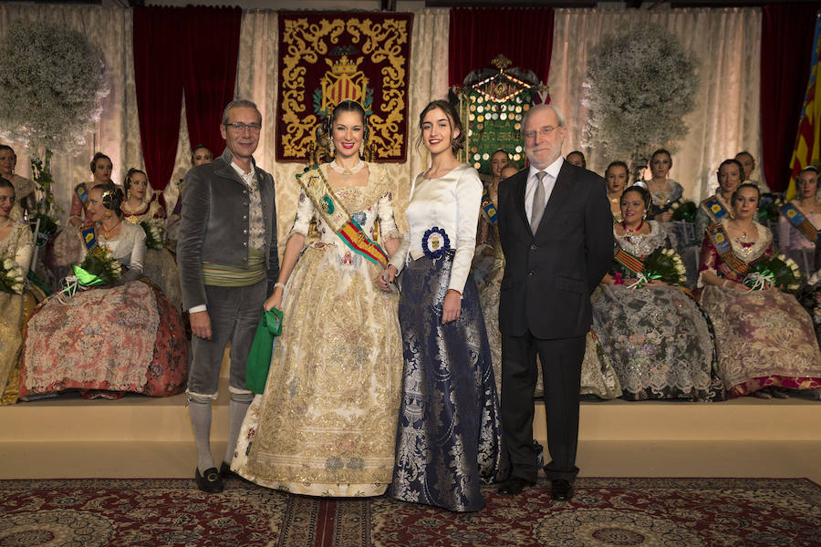
[[[484,236],[485,232],[492,232],[494,237]],[[499,244],[496,224],[489,222],[484,212],[479,219],[479,232],[476,241],[477,243],[493,242],[494,245],[494,263],[491,267],[490,274],[487,274],[483,281],[479,283],[479,301],[482,303],[482,315],[484,316],[484,325],[487,329],[487,341],[491,348],[491,356],[494,363],[496,393],[501,402],[502,333],[499,331],[499,297],[501,295],[502,276],[504,275],[504,253],[502,253],[502,245]],[[474,258],[473,268],[475,267],[476,259]],[[538,360],[539,357],[536,356],[536,361],[538,362]],[[545,394],[542,366],[536,366],[536,370],[538,379],[536,380],[534,397],[542,397]],[[598,341],[598,337],[592,329],[587,333],[585,359],[582,362],[581,387],[579,393],[581,395],[594,395],[603,399],[615,398],[621,395],[621,387],[618,385],[616,371],[610,364],[607,353],[603,351],[601,343]]]

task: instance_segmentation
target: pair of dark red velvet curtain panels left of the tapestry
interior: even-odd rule
[[[134,80],[140,141],[151,188],[171,180],[183,88],[192,146],[223,151],[220,119],[234,98],[242,10],[238,7],[134,8]]]

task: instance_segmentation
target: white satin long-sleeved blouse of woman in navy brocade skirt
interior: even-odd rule
[[[408,232],[399,250],[390,258],[398,272],[405,263],[424,255],[422,238],[434,226],[441,228],[455,250],[449,289],[464,290],[476,247],[476,228],[482,205],[482,181],[473,167],[462,164],[439,179],[417,175],[411,187],[411,202],[405,212]]]

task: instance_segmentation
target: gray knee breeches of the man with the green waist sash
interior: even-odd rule
[[[225,345],[231,339],[231,369],[228,386],[247,391],[245,364],[254,342],[256,327],[267,297],[267,280],[244,287],[205,285],[211,340],[192,338],[192,363],[186,393],[216,398]]]

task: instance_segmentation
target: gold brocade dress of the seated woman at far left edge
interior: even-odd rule
[[[33,248],[34,238],[28,225],[15,222],[11,232],[0,240],[0,262],[6,258],[15,260],[25,274]],[[26,291],[0,291],[0,405],[11,405],[17,400],[23,326],[26,308],[33,307],[33,303],[34,297]]]

